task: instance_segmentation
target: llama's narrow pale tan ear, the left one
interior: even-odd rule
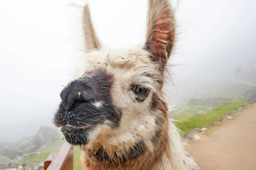
[[[98,37],[96,36],[93,24],[91,22],[90,10],[88,5],[84,6],[83,11],[83,30],[84,30],[84,41],[86,50],[93,51],[100,49],[101,45],[99,43]]]

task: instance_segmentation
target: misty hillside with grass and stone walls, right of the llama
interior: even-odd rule
[[[195,98],[189,99],[187,105],[173,112],[170,117],[180,121],[177,122],[177,127],[183,136],[186,132],[221,119],[230,111],[255,99],[254,85],[222,82],[218,87],[209,87],[205,94],[195,94]]]

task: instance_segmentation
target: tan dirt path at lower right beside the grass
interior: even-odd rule
[[[256,104],[189,141],[189,153],[202,170],[256,170]]]

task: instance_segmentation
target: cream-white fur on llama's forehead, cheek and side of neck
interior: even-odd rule
[[[100,140],[105,150],[109,150],[109,152],[115,148],[115,151],[118,150],[119,153],[124,153],[125,150],[128,150],[140,140],[145,142],[149,151],[153,150],[151,138],[156,128],[160,127],[155,125],[157,111],[149,109],[149,102],[153,92],[159,94],[160,97],[162,96],[157,82],[149,77],[142,76],[144,72],[148,72],[153,77],[159,77],[156,69],[157,66],[148,59],[148,55],[148,52],[138,46],[128,50],[93,51],[81,57],[78,62],[76,74],[74,74],[75,77],[81,77],[85,71],[96,68],[105,68],[115,77],[111,94],[113,104],[119,107],[123,113],[120,126],[113,133],[113,130],[107,125],[108,123],[103,124],[90,134],[90,139],[96,139],[95,136],[100,134],[101,137],[97,140]],[[118,67],[116,65],[125,65],[125,67]],[[143,84],[151,89],[144,102],[134,102],[135,94],[130,90],[131,84]],[[95,105],[99,106],[98,104]],[[111,137],[109,137],[110,132]],[[164,167],[161,168],[163,170],[186,170],[187,167],[183,164],[186,157],[183,153],[180,136],[177,128],[171,121],[169,134],[171,155],[166,155],[165,163],[163,163]],[[97,142],[95,140],[91,141],[93,142],[90,143]],[[87,147],[90,147],[90,144]]]

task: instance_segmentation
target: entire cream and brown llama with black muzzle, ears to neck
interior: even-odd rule
[[[166,63],[175,42],[168,0],[149,0],[144,46],[101,46],[83,8],[86,56],[81,77],[61,92],[53,123],[81,147],[87,170],[186,170],[177,128],[163,94]]]

